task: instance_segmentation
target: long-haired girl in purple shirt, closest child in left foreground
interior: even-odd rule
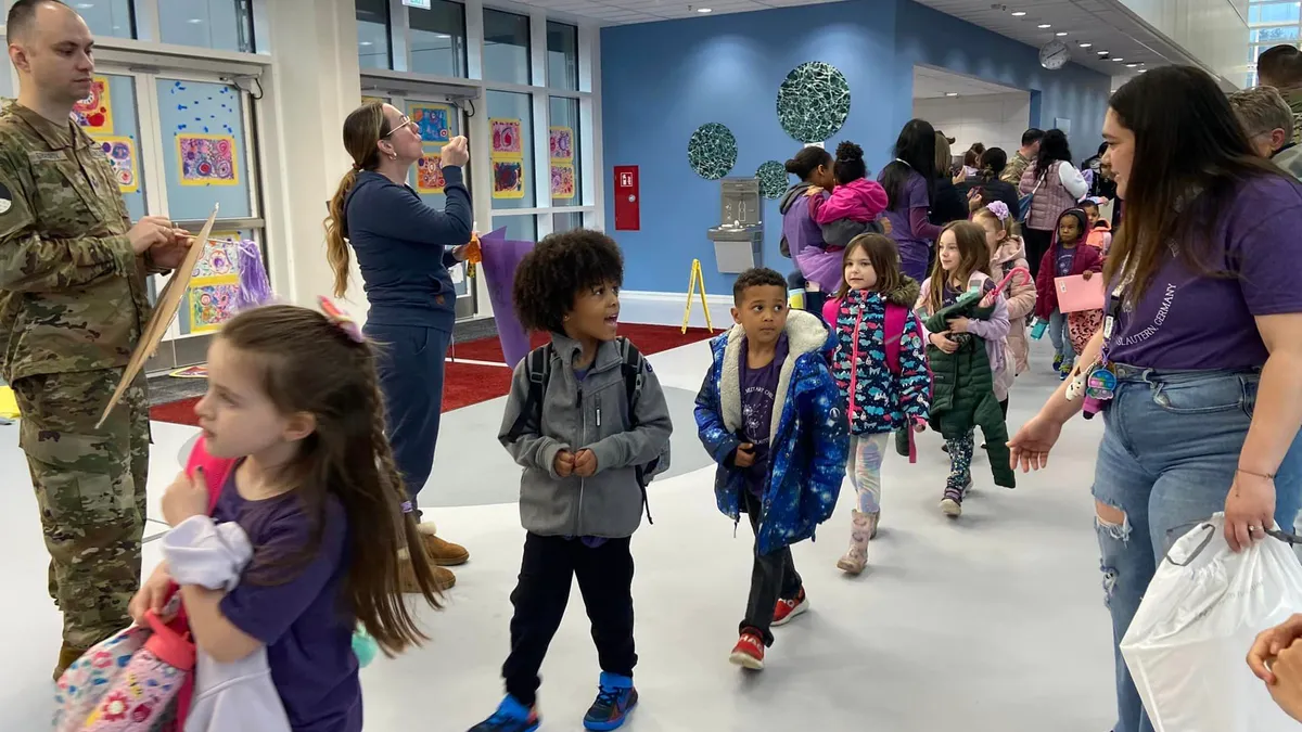
[[[195,413],[208,453],[237,461],[212,520],[237,522],[254,550],[230,591],[182,585],[195,645],[219,664],[266,649],[294,732],[362,729],[354,628],[387,654],[424,640],[402,572],[439,607],[414,514],[402,513],[374,349],[342,317],[250,310],[212,343]],[[202,474],[181,474],[163,496],[173,526],[207,512]],[[171,582],[160,564],[132,600],[133,616],[161,612]]]

